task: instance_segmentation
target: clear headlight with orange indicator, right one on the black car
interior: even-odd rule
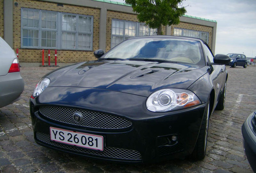
[[[146,102],[147,109],[152,112],[167,112],[200,104],[194,93],[182,89],[161,89],[151,94]]]

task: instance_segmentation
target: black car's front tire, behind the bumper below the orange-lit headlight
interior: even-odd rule
[[[196,141],[196,145],[194,151],[191,154],[191,159],[194,161],[204,159],[206,155],[206,146],[207,146],[207,138],[208,138],[208,129],[209,129],[209,118],[210,118],[210,99],[206,103],[206,108],[204,110],[204,117],[202,120],[202,125],[200,128],[200,132],[198,135],[198,139]]]

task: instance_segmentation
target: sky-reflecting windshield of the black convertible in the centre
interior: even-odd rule
[[[152,37],[125,40],[101,58],[205,64],[200,42],[179,38]]]

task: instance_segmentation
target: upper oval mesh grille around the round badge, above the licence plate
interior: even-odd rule
[[[129,120],[121,117],[83,109],[74,109],[68,107],[41,107],[39,112],[49,119],[84,127],[93,127],[99,129],[123,129],[132,125]],[[74,121],[73,114],[75,112],[80,112],[83,114],[83,121],[81,123]]]

